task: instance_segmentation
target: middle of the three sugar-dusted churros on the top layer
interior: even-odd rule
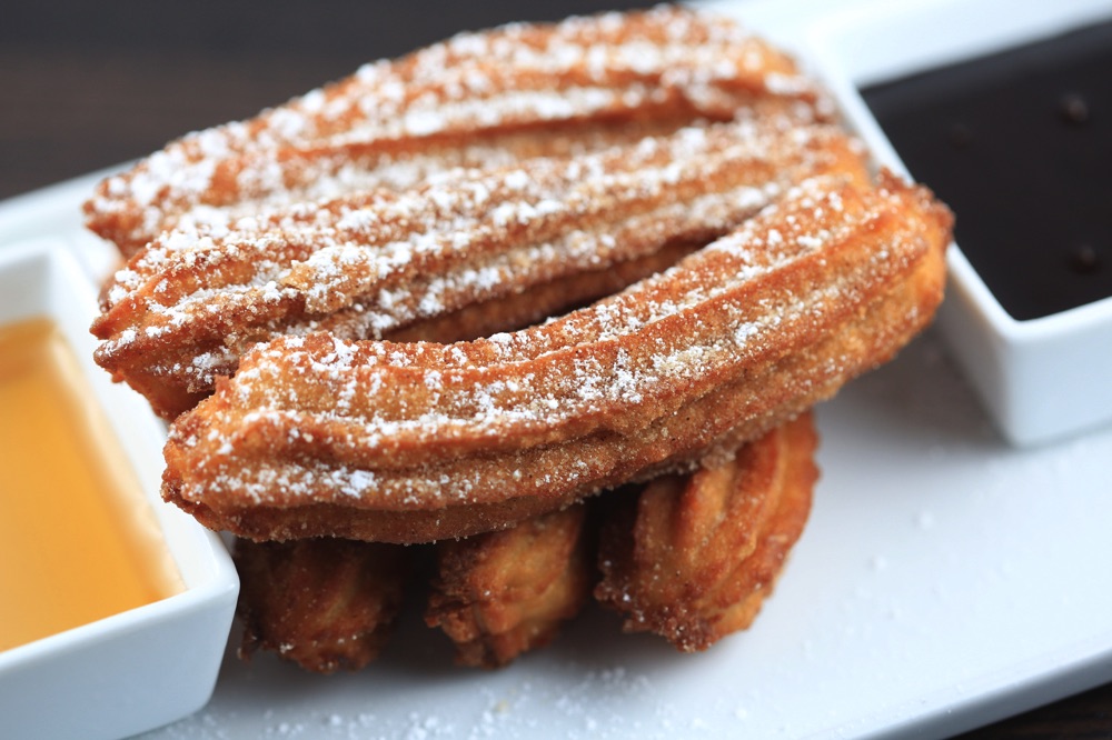
[[[716,124],[445,174],[403,194],[353,194],[219,233],[167,232],[106,287],[96,359],[172,419],[259,341],[413,336],[414,323],[467,320],[479,306],[504,322],[524,293],[589,294],[603,271],[667,261],[677,243],[711,241],[824,172],[865,178],[856,147],[833,128]]]

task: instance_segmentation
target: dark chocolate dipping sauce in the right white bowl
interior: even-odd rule
[[[1013,318],[1112,296],[1112,22],[862,96]]]

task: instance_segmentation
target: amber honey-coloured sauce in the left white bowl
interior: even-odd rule
[[[181,588],[61,331],[0,326],[0,650]]]

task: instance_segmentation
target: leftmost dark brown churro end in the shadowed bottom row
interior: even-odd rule
[[[358,670],[378,657],[401,607],[405,548],[338,539],[238,540],[240,656],[277,652],[306,670]]]

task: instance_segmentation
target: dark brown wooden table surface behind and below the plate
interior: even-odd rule
[[[638,4],[645,3],[6,3],[0,199],[249,117],[373,58],[459,29]],[[1112,683],[962,738],[1112,738]]]

